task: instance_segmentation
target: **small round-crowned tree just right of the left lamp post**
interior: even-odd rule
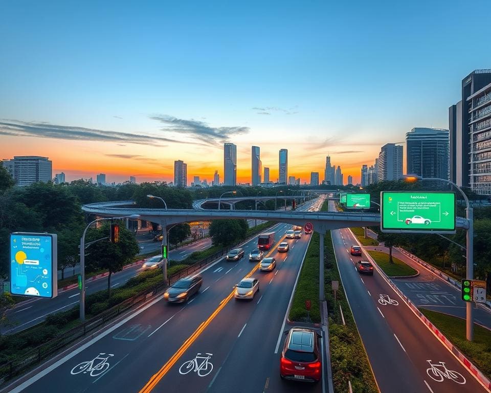
[[[105,224],[100,228],[92,228],[87,233],[86,242],[108,237],[110,225]],[[131,258],[138,254],[138,246],[135,234],[127,230],[123,223],[119,225],[119,242],[110,243],[109,239],[101,240],[92,244],[86,249],[87,266],[91,269],[104,269],[109,272],[107,276],[107,290],[111,293],[111,275],[123,269],[123,266],[130,263]]]

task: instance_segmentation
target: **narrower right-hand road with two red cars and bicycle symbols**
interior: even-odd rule
[[[343,286],[382,393],[486,391],[419,321],[380,274],[375,271],[373,276],[361,276],[356,271],[353,261],[360,257],[352,257],[349,253],[349,247],[356,244],[349,229],[331,233]],[[380,303],[381,297],[395,303]],[[427,373],[429,369],[433,375],[429,361],[442,371],[439,362],[444,362],[448,370],[465,378],[465,383],[459,384],[447,377],[441,377],[441,382],[435,381]],[[453,373],[445,375],[459,377]]]

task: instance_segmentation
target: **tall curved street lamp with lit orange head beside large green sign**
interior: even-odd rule
[[[407,182],[417,182],[418,180],[439,180],[441,182],[445,182],[457,188],[465,201],[465,218],[467,219],[468,228],[466,229],[466,242],[465,242],[465,255],[466,255],[466,279],[472,280],[474,279],[474,218],[473,218],[473,209],[467,195],[465,192],[455,183],[451,182],[447,179],[440,178],[423,178],[417,174],[406,174],[403,176],[402,180]],[[474,318],[473,318],[473,308],[472,302],[466,303],[466,324],[465,324],[466,337],[468,341],[474,340]]]

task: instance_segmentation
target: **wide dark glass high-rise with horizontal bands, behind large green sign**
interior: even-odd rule
[[[406,134],[408,174],[449,179],[449,130],[416,127]]]

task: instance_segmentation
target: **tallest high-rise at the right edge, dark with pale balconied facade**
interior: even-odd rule
[[[462,97],[449,108],[450,180],[491,194],[491,69],[462,79]]]

